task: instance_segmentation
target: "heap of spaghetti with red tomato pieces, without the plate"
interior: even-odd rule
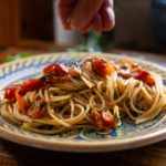
[[[132,60],[114,63],[90,56],[80,66],[48,65],[43,76],[7,87],[0,113],[24,129],[56,134],[108,131],[122,118],[139,124],[165,110],[166,87],[159,75]]]

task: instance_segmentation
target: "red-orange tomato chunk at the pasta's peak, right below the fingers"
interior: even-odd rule
[[[103,59],[94,60],[92,62],[92,69],[94,73],[100,75],[101,77],[112,75],[115,71],[112,64]]]

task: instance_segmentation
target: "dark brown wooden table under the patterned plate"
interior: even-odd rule
[[[0,62],[8,53],[20,50],[8,50],[0,53]],[[28,51],[29,52],[29,51]],[[145,54],[114,50],[115,53],[144,58],[166,66],[166,55]],[[166,141],[135,149],[112,153],[61,153],[37,149],[18,145],[0,138],[0,166],[166,166]]]

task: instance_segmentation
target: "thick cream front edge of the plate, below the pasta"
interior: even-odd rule
[[[45,139],[42,137],[32,137],[25,134],[15,133],[14,131],[7,131],[7,128],[0,126],[0,137],[14,142],[21,145],[27,145],[31,147],[38,147],[42,149],[50,151],[61,151],[61,152],[114,152],[122,149],[129,149],[135,147],[142,147],[145,145],[151,145],[160,141],[166,139],[166,128],[156,131],[146,135],[124,138],[124,139],[103,139],[103,141],[60,141]],[[21,142],[24,141],[24,142]],[[79,144],[77,144],[79,143]]]

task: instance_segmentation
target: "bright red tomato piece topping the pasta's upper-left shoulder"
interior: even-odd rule
[[[43,73],[46,75],[52,74],[55,76],[63,76],[63,75],[68,74],[69,71],[64,66],[62,66],[61,64],[53,63],[53,64],[45,66],[43,69]]]

